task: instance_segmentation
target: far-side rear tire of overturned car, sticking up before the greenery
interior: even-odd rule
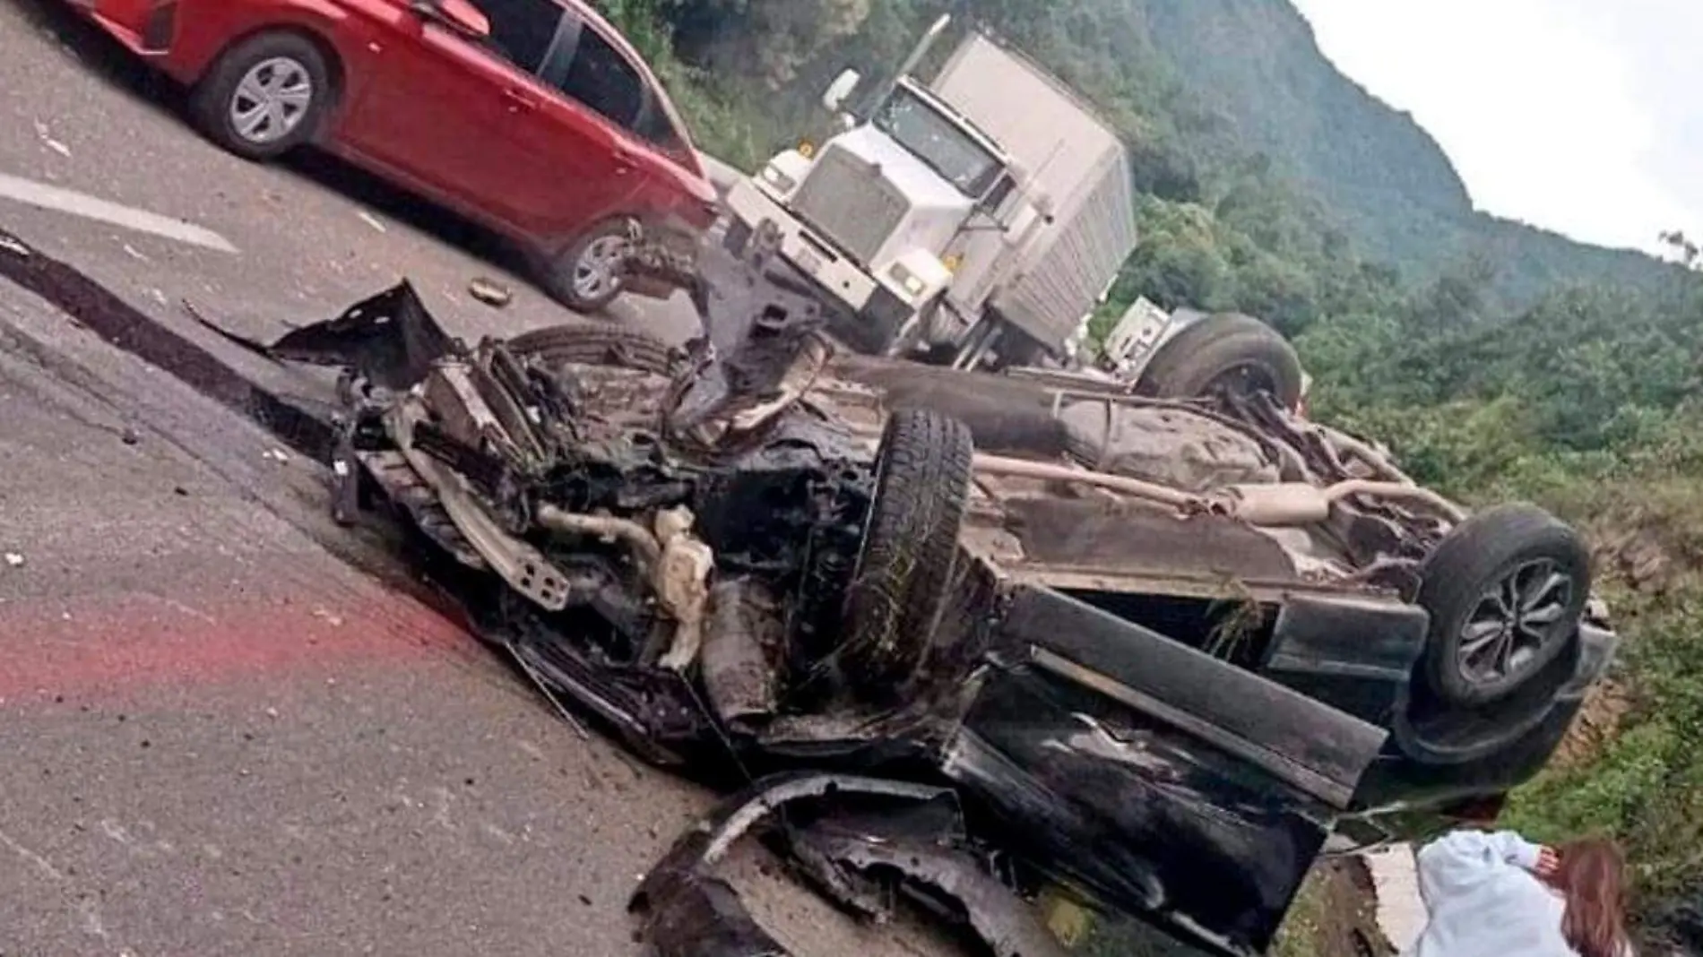
[[[1301,359],[1276,329],[1240,313],[1209,315],[1178,332],[1141,371],[1136,392],[1199,398],[1219,387],[1269,392],[1284,409],[1301,404]]]

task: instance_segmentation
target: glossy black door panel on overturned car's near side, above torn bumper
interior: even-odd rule
[[[1264,952],[1333,817],[1236,754],[1029,666],[989,678],[943,770],[1022,860],[1223,954]]]

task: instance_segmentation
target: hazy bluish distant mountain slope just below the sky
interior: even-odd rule
[[[1577,244],[1473,209],[1442,148],[1344,77],[1287,0],[1146,0],[1151,46],[1250,150],[1320,196],[1376,261],[1434,274],[1483,254],[1519,300],[1557,283],[1657,281],[1652,257]],[[1655,237],[1650,237],[1652,240]]]

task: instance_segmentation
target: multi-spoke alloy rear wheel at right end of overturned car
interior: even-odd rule
[[[1589,591],[1591,552],[1563,521],[1528,504],[1470,516],[1420,569],[1425,688],[1458,707],[1514,695],[1577,640]]]

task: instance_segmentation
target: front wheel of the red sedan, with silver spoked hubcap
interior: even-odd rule
[[[295,31],[269,31],[218,56],[191,90],[189,114],[226,152],[271,160],[312,141],[334,97],[318,44]],[[262,126],[250,129],[245,117],[261,114]]]

